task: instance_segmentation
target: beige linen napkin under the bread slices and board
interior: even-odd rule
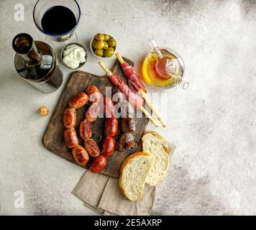
[[[175,145],[170,145],[170,156],[173,155],[174,149]],[[120,192],[118,179],[89,170],[83,174],[73,194],[84,201],[86,207],[104,215],[150,215],[155,201],[155,187],[146,185],[140,201],[129,201]]]

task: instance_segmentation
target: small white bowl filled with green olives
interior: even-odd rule
[[[101,59],[109,58],[116,51],[116,40],[111,35],[99,33],[91,40],[90,48],[94,56]]]

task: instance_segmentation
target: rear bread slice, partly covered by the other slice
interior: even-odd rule
[[[142,151],[148,152],[152,161],[146,183],[155,186],[165,178],[169,167],[168,141],[156,132],[147,132],[142,137]]]

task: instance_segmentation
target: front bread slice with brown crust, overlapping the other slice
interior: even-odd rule
[[[130,201],[139,201],[142,198],[150,164],[150,155],[147,152],[136,152],[122,163],[119,188]]]

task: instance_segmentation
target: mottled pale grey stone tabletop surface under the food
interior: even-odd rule
[[[24,22],[14,20],[17,1],[0,1],[0,214],[96,214],[70,193],[84,170],[41,143],[50,116],[36,111],[42,104],[52,111],[62,88],[39,93],[14,70],[14,35],[28,32],[45,41],[32,20],[35,1],[19,3]],[[152,214],[256,214],[255,1],[79,3],[77,33],[87,48],[97,32],[109,32],[119,51],[138,64],[149,50],[147,40],[155,37],[186,64],[190,88],[165,91],[168,128],[148,126],[177,146]],[[70,70],[60,67],[66,80]],[[82,70],[104,74],[91,53]],[[14,208],[17,190],[24,192],[24,208]]]

